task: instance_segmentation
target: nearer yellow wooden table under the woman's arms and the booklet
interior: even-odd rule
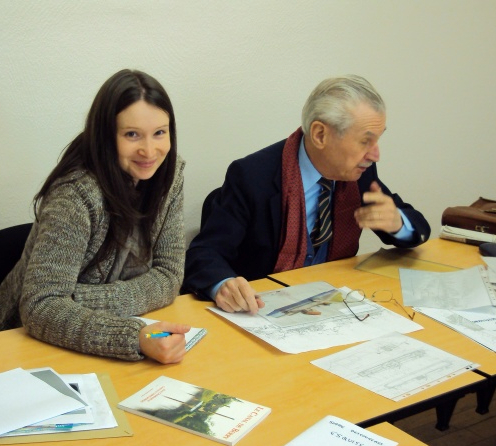
[[[278,287],[268,279],[255,281],[253,286],[257,291]],[[211,313],[207,310],[210,305],[211,302],[184,295],[179,296],[170,307],[147,315],[154,319],[186,322],[208,330],[206,337],[188,352],[180,364],[164,366],[149,359],[125,362],[79,354],[39,342],[20,328],[0,332],[0,371],[15,367],[30,369],[50,366],[59,373],[106,373],[120,399],[163,374],[270,407],[272,413],[239,442],[240,446],[282,446],[326,415],[358,423],[439,397],[455,388],[469,388],[483,379],[475,374],[464,374],[396,403],[310,364],[311,360],[334,350],[299,355],[282,353]],[[68,444],[126,446],[162,441],[175,446],[215,444],[133,414],[127,414],[127,419],[134,431],[133,437],[71,441]],[[382,435],[402,445],[421,444],[415,443],[394,426],[374,429],[383,429]],[[62,443],[48,444],[60,446]]]

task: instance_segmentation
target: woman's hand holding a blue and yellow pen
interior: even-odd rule
[[[181,362],[186,354],[184,333],[190,330],[189,325],[172,322],[155,322],[143,327],[139,334],[140,351],[145,356],[153,358],[162,364]],[[147,338],[145,335],[153,331],[172,333],[166,338]]]

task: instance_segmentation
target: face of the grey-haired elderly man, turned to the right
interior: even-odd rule
[[[353,111],[354,124],[338,133],[324,124],[323,147],[312,162],[325,178],[357,181],[373,162],[379,161],[379,138],[386,130],[386,116],[367,104]]]

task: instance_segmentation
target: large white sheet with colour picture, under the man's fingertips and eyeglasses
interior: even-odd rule
[[[350,304],[358,321],[343,303],[349,288],[312,282],[259,293],[265,302],[256,315],[208,310],[228,319],[285,353],[301,353],[383,336],[391,330],[410,333],[422,326],[368,299]]]

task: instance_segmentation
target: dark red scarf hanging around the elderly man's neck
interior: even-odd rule
[[[298,164],[302,137],[299,128],[286,140],[282,151],[282,227],[274,273],[301,268],[307,255],[305,194]],[[357,182],[336,181],[332,202],[333,230],[327,261],[354,256],[362,232],[353,216],[362,203]]]

